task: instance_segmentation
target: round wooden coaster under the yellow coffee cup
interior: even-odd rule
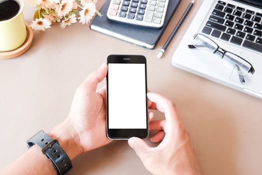
[[[23,54],[25,51],[29,49],[33,41],[33,30],[27,22],[25,22],[25,26],[26,26],[26,39],[23,42],[23,44],[11,51],[0,51],[0,59],[10,59],[20,56],[21,54]]]

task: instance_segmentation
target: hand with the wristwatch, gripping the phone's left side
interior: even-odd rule
[[[71,159],[112,141],[106,136],[106,88],[96,91],[106,74],[104,63],[84,80],[75,92],[68,118],[49,133],[63,144]]]

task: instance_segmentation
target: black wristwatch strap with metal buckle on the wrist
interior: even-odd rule
[[[44,131],[40,130],[26,142],[28,148],[34,144],[40,147],[42,153],[52,161],[58,175],[67,174],[72,169],[72,162],[58,140],[51,138]]]

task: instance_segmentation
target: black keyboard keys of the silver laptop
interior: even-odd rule
[[[202,32],[262,53],[262,13],[219,0]]]

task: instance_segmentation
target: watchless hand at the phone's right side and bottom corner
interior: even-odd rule
[[[201,174],[193,146],[175,104],[166,97],[149,92],[150,109],[165,113],[165,120],[149,123],[150,130],[159,130],[152,142],[162,141],[157,147],[149,147],[137,137],[128,140],[145,167],[153,174]]]

